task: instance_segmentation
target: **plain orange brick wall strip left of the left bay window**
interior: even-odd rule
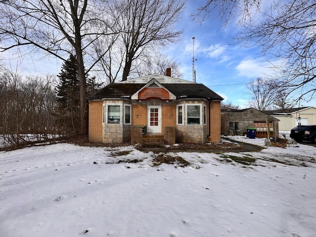
[[[89,101],[89,142],[103,142],[102,108],[102,101]]]

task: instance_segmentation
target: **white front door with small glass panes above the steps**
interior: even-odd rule
[[[147,132],[161,133],[161,106],[147,106]]]

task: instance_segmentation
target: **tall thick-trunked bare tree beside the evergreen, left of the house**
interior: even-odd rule
[[[79,71],[81,133],[87,132],[86,74],[102,58],[91,56],[95,40],[111,35],[106,0],[1,0],[0,51],[44,52],[63,61],[75,52]],[[45,56],[45,55],[44,55]],[[89,64],[88,66],[85,65]]]

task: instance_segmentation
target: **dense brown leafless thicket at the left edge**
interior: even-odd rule
[[[25,142],[56,134],[54,79],[49,75],[22,78],[8,70],[1,74],[0,132],[10,146],[19,147]]]

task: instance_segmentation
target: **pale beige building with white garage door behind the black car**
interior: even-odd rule
[[[298,125],[299,120],[302,125],[316,124],[316,108],[300,107],[282,110],[264,111],[264,113],[279,120],[279,131],[290,131]]]

